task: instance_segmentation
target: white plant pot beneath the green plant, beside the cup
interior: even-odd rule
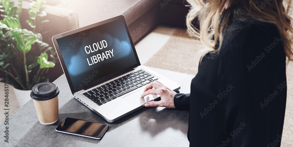
[[[19,90],[13,87],[16,100],[18,102],[19,107],[23,106],[27,103],[30,99],[30,91],[31,90]]]

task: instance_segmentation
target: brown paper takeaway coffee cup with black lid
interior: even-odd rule
[[[30,92],[33,98],[38,119],[42,124],[53,124],[59,117],[58,107],[59,88],[50,82],[35,85]]]

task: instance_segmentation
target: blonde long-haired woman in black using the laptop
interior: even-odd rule
[[[152,82],[141,96],[158,94],[161,100],[145,107],[189,110],[190,146],[280,146],[286,56],[292,61],[293,55],[291,1],[189,3],[188,33],[211,50],[200,61],[190,94]]]

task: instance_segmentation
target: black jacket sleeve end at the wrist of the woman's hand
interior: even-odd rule
[[[174,105],[178,110],[189,111],[190,107],[190,93],[177,93],[174,97]]]

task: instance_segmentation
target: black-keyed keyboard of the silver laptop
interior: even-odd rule
[[[100,106],[157,79],[146,71],[139,69],[102,86],[93,88],[83,93],[83,95]]]

